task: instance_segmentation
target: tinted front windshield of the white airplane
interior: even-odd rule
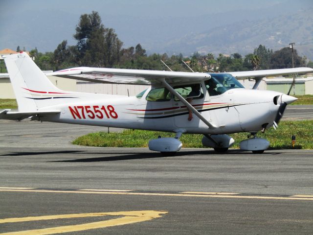
[[[234,88],[245,88],[232,75],[228,73],[209,73],[211,78],[205,81],[205,87],[210,96],[223,94]]]

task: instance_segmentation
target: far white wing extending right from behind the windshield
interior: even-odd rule
[[[256,71],[241,71],[241,72],[227,72],[237,79],[245,78],[262,78],[268,76],[287,75],[287,74],[300,74],[313,72],[311,68],[293,68],[293,69],[278,69],[278,70],[256,70]]]

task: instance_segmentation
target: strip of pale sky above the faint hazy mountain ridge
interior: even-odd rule
[[[257,9],[289,0],[0,0],[0,14],[22,13],[29,10],[54,9],[83,14],[96,10],[121,16],[194,16],[211,12]],[[302,0],[310,2],[309,0]],[[298,1],[299,2],[299,1]],[[301,0],[300,0],[301,2]]]

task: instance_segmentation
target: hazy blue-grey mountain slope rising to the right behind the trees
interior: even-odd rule
[[[313,8],[295,14],[266,20],[241,21],[215,27],[202,33],[191,33],[184,37],[158,45],[159,51],[169,54],[182,52],[191,54],[253,53],[260,44],[278,50],[296,43],[298,54],[313,60]]]

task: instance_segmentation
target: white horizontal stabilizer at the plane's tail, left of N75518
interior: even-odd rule
[[[5,109],[0,111],[0,119],[7,119],[7,120],[16,120],[21,121],[25,118],[30,118],[32,116],[48,116],[61,113],[60,110],[44,110],[44,111],[33,111],[33,112],[11,112],[10,109]]]

